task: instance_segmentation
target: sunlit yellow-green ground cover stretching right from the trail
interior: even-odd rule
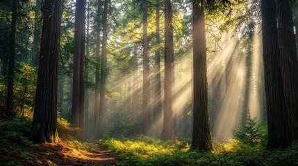
[[[162,142],[145,136],[108,138],[99,143],[115,152],[117,165],[298,165],[298,144],[269,151],[238,140],[215,144],[213,153],[189,151],[188,142]]]

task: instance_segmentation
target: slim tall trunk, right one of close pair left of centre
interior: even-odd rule
[[[110,0],[104,1],[102,48],[101,48],[101,80],[100,80],[100,102],[99,102],[99,138],[104,137],[104,121],[106,119],[106,74],[107,74],[107,41],[108,41],[108,4]]]

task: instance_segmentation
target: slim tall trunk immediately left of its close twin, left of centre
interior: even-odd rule
[[[94,131],[96,138],[99,138],[98,136],[98,128],[99,128],[99,86],[100,86],[100,30],[101,30],[101,0],[97,1],[97,47],[96,47],[96,61],[97,65],[95,66],[95,94],[94,94]]]

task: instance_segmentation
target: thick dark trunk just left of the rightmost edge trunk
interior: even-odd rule
[[[292,136],[288,124],[285,99],[283,98],[281,58],[276,35],[278,32],[274,0],[262,0],[261,11],[268,147],[287,147],[292,143]]]

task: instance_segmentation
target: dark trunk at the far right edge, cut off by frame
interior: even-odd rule
[[[281,76],[285,107],[288,109],[292,138],[298,140],[298,62],[291,4],[289,0],[277,1],[277,23]]]

